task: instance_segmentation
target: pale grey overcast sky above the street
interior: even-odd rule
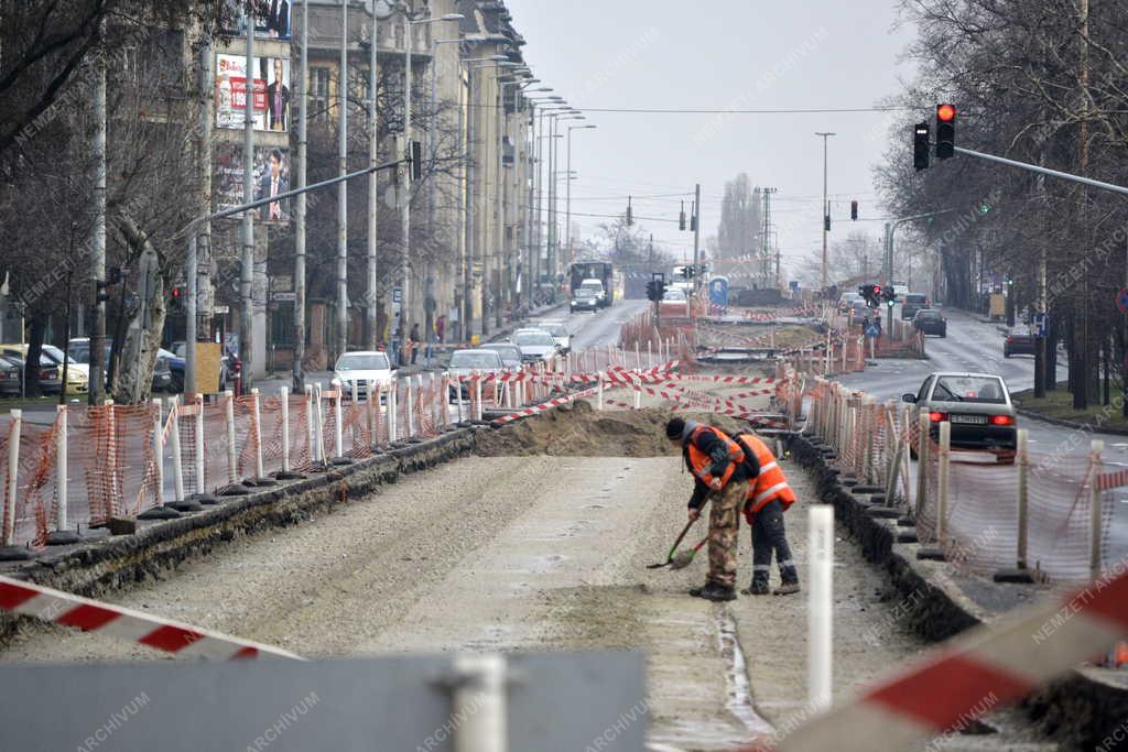
[[[572,134],[572,168],[579,171],[572,211],[585,235],[609,220],[576,214],[622,213],[627,194],[640,196],[637,218],[677,220],[671,194],[688,194],[699,182],[704,246],[716,233],[725,180],[743,171],[754,185],[778,188],[774,214],[784,264],[797,266],[821,248],[822,140],[816,131],[838,133],[830,139],[829,192],[832,215],[845,221],[835,222],[831,238],[855,228],[880,235],[878,222],[851,227],[849,201],[860,202],[863,218],[881,215],[871,167],[887,148],[888,114],[594,110],[873,106],[913,74],[898,59],[915,29],[893,28],[892,0],[506,5],[543,86],[587,109],[587,123],[598,126]],[[691,254],[691,233],[678,232],[676,223],[638,223],[654,233],[655,245]]]

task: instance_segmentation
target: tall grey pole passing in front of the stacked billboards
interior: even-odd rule
[[[243,96],[243,203],[255,200],[255,19],[244,10],[247,19],[247,61],[245,64]],[[243,389],[249,391],[255,379],[255,214],[243,213],[243,259],[239,280],[240,335],[239,354],[243,357]]]

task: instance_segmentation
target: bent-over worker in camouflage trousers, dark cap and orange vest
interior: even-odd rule
[[[711,501],[708,519],[708,577],[704,587],[689,594],[710,601],[737,598],[737,533],[740,510],[748,497],[748,480],[759,474],[755,454],[749,454],[723,431],[693,421],[672,418],[666,437],[681,448],[686,467],[694,476],[689,520],[700,516]]]

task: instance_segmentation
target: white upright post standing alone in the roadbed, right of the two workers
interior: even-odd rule
[[[834,560],[835,511],[810,507],[811,595],[808,601],[808,684],[811,708],[830,707],[834,688]]]

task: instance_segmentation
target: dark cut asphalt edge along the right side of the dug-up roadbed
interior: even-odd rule
[[[866,512],[867,505],[843,488],[821,450],[801,434],[783,434],[792,457],[818,479],[819,497],[835,506],[835,520],[861,546],[867,561],[879,565],[907,605],[906,622],[929,642],[941,642],[1002,611],[1049,592],[1043,585],[976,583],[972,600],[955,582],[961,576],[948,565],[916,558],[916,543],[897,542],[897,521]],[[964,583],[968,584],[968,583]],[[989,603],[985,607],[981,603]],[[1123,734],[1128,717],[1128,684],[1122,672],[1083,667],[1029,696],[1023,708],[1043,733],[1065,749],[1104,749],[1113,734]]]

